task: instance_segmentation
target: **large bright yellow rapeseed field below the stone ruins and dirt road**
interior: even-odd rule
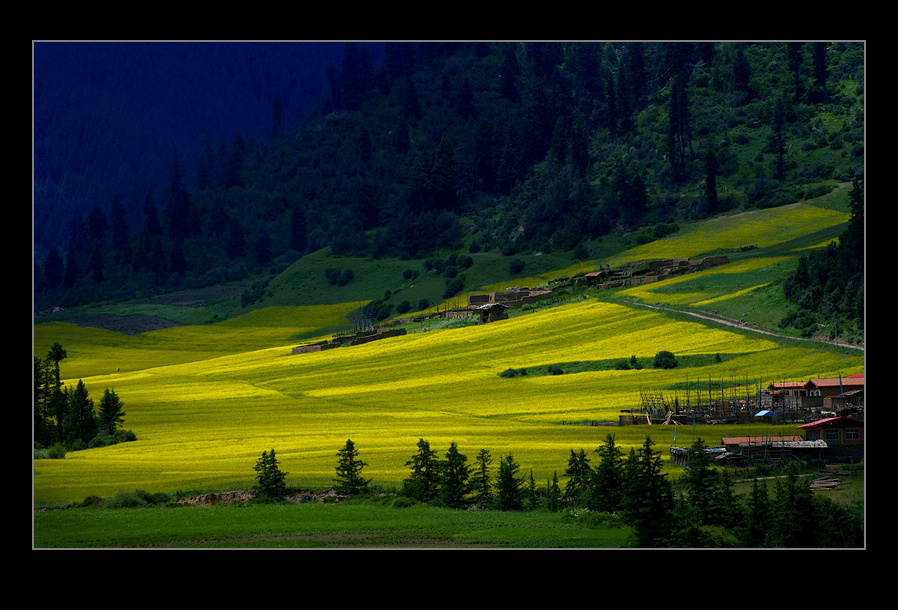
[[[659,449],[669,428],[569,425],[616,421],[642,390],[691,378],[778,379],[853,374],[862,356],[813,347],[779,348],[763,338],[673,320],[596,300],[544,309],[486,325],[419,332],[365,345],[292,355],[291,337],[325,327],[345,308],[272,308],[204,327],[143,336],[35,327],[35,353],[54,341],[67,349],[66,384],[82,379],[98,401],[106,388],[124,402],[136,442],[34,462],[42,503],[119,491],[246,488],[263,451],[277,450],[290,485],[329,485],[347,438],[375,483],[399,484],[419,438],[445,453],[457,442],[473,460],[513,454],[540,484],[561,476],[571,449],[592,452],[609,432],[637,446],[646,432]],[[324,320],[326,323],[322,323]],[[691,369],[604,370],[504,378],[553,363],[725,354]],[[715,434],[717,432],[715,431]],[[714,443],[719,439],[713,439]]]

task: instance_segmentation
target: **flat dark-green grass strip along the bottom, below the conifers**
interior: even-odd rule
[[[567,514],[376,503],[37,512],[36,548],[620,548],[630,528]]]

